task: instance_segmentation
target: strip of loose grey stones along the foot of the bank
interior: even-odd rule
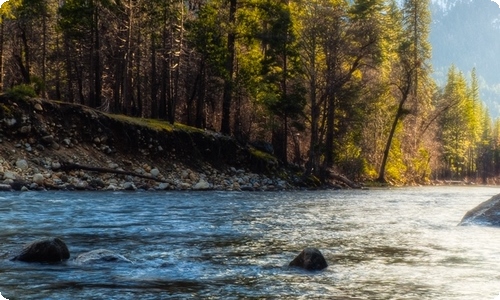
[[[40,167],[40,163],[45,167]],[[125,172],[125,169],[113,160],[108,160],[105,164],[110,171]],[[175,163],[166,170],[149,164],[134,166],[130,161],[126,164],[129,165],[128,169],[133,169],[133,172],[128,172],[132,175],[84,170],[58,171],[61,163],[50,158],[39,159],[36,164],[23,158],[15,162],[0,158],[0,174],[2,174],[0,190],[276,191],[297,188],[280,178],[270,178],[234,167],[219,171],[206,165],[202,171],[195,171]],[[143,178],[133,174],[142,175]]]

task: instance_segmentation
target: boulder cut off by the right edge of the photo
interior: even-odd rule
[[[469,210],[459,225],[500,226],[500,195]]]

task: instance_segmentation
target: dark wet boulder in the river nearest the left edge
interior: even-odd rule
[[[69,258],[69,250],[63,240],[46,238],[31,242],[12,258],[24,262],[61,262]]]

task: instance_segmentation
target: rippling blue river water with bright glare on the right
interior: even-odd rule
[[[493,300],[500,229],[457,224],[499,192],[1,193],[0,293],[10,300]],[[61,237],[72,258],[8,259],[47,236]],[[327,269],[287,266],[308,246],[322,251]],[[72,261],[99,248],[133,263]]]

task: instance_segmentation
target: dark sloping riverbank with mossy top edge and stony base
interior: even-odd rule
[[[0,96],[0,190],[318,188],[270,153],[216,132]]]

